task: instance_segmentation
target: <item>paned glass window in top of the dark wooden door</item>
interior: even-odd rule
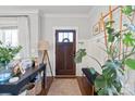
[[[73,33],[71,31],[59,33],[58,42],[73,42]]]

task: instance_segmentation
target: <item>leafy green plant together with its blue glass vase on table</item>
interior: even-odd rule
[[[12,47],[11,45],[4,45],[0,41],[0,81],[8,80],[11,76],[11,71],[9,70],[8,64],[21,49],[21,46]]]

